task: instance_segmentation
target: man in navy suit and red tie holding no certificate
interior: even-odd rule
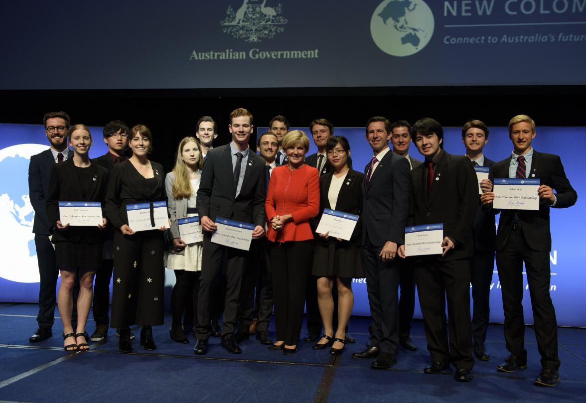
[[[391,135],[389,119],[373,117],[367,121],[366,139],[374,156],[364,168],[362,242],[376,341],[352,357],[376,358],[371,364],[375,369],[387,369],[397,363],[399,269],[395,258],[398,245],[404,242],[411,195],[409,162],[390,151]]]

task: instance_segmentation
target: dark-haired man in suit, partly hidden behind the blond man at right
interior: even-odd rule
[[[470,120],[462,127],[462,143],[466,148],[466,156],[472,165],[486,166],[490,169],[489,178],[492,180],[492,166],[494,161],[486,158],[482,149],[488,143],[489,129],[479,120]],[[482,186],[489,191],[490,182],[483,180]],[[492,209],[483,209],[479,201],[476,217],[472,225],[474,240],[474,254],[470,258],[470,275],[472,284],[472,337],[474,340],[474,355],[479,360],[488,361],[490,354],[486,351],[484,342],[490,319],[490,283],[495,269],[495,212]]]

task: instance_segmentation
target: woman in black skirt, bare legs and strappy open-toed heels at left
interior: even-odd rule
[[[86,339],[86,322],[90,312],[94,274],[102,260],[104,240],[101,230],[105,228],[107,220],[102,218],[102,224],[96,227],[70,226],[70,223],[60,218],[59,201],[102,203],[108,183],[108,170],[91,163],[88,154],[91,134],[85,125],[71,127],[69,145],[73,148],[73,158],[53,165],[46,206],[47,217],[54,225],[52,242],[55,244],[57,267],[61,273],[57,306],[63,322],[63,344],[66,351],[74,351],[90,348]],[[76,281],[79,281],[77,329],[73,329],[72,292]]]

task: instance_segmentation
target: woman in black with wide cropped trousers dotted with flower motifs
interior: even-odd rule
[[[120,329],[118,350],[122,353],[132,351],[130,326],[135,323],[142,325],[144,349],[156,349],[152,326],[163,324],[163,237],[168,227],[135,232],[128,226],[127,204],[151,203],[152,210],[153,202],[166,201],[163,167],[148,159],[151,131],[136,125],[128,146],[132,156],[114,165],[106,195],[107,216],[116,228],[110,326]]]

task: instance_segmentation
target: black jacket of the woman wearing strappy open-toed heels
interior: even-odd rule
[[[60,220],[59,201],[100,201],[102,216],[105,217],[104,199],[108,185],[108,170],[95,163],[85,169],[90,171],[91,182],[90,192],[83,197],[73,158],[53,165],[46,201],[47,217],[53,227],[56,227],[56,221]],[[89,243],[98,243],[103,241],[103,234],[97,227],[69,227],[63,231],[54,228],[52,242],[77,242],[82,238]]]

